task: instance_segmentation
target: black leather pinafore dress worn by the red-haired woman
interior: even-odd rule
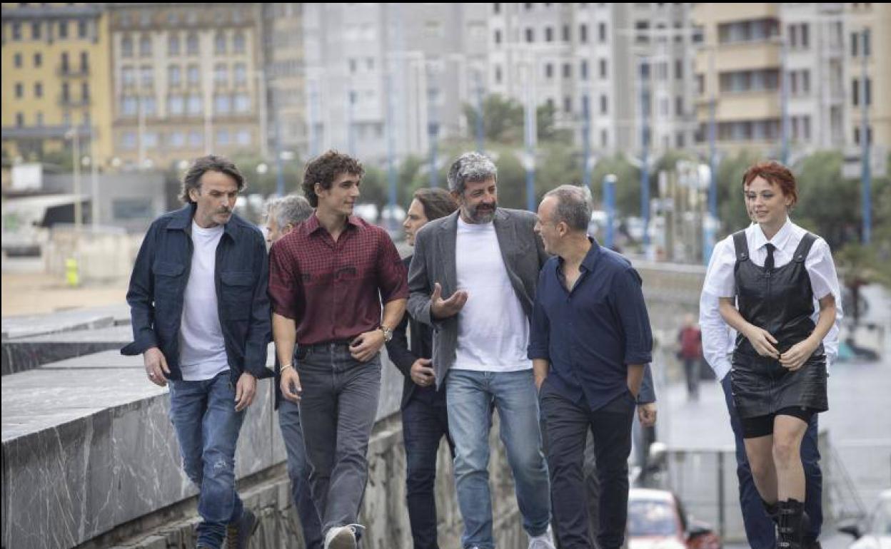
[[[815,240],[813,234],[806,233],[792,261],[779,269],[767,270],[748,257],[746,233],[740,230],[733,235],[733,276],[740,314],[750,324],[770,332],[781,354],[805,340],[815,327],[811,319],[813,288],[805,269],[805,259]],[[736,409],[744,418],[767,416],[789,407],[825,411],[829,403],[823,344],[804,366],[790,372],[779,360],[759,355],[748,338],[740,334],[733,351],[731,388]]]

